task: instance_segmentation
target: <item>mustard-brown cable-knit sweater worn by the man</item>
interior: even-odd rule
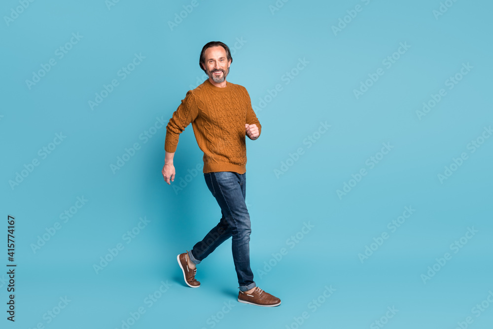
[[[204,152],[204,173],[246,172],[245,123],[256,124],[259,133],[261,126],[245,87],[226,81],[220,88],[206,80],[189,90],[166,126],[167,152],[176,151],[179,134],[190,123]]]

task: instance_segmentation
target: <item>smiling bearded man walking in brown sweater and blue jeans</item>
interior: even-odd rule
[[[175,180],[173,157],[179,134],[192,123],[197,144],[204,152],[204,178],[222,213],[219,223],[202,241],[176,258],[185,283],[198,288],[196,265],[232,237],[233,260],[240,285],[238,301],[277,306],[281,299],[258,288],[250,269],[251,229],[245,204],[245,140],[246,136],[256,140],[262,127],[245,87],[226,81],[232,61],[227,45],[219,41],[207,43],[202,48],[199,65],[209,78],[187,92],[166,127],[166,156],[162,171],[166,183],[171,184],[170,181]]]

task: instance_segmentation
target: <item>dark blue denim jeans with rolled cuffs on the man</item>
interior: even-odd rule
[[[207,187],[221,207],[222,217],[204,239],[188,252],[190,260],[198,264],[221,243],[232,237],[233,260],[240,290],[255,287],[250,269],[250,215],[246,209],[246,173],[205,173]]]

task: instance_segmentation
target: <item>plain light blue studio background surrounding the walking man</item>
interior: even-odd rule
[[[481,138],[493,124],[493,5],[445,2],[437,15],[438,0],[3,1],[1,227],[6,236],[7,215],[15,217],[18,266],[15,323],[5,319],[0,276],[1,328],[123,329],[139,307],[145,313],[129,328],[453,329],[467,317],[468,328],[491,328],[493,139]],[[228,81],[246,87],[262,124],[260,138],[247,140],[251,267],[280,307],[236,301],[231,240],[199,265],[199,289],[184,285],[176,255],[215,225],[219,206],[190,127],[171,186],[161,174],[165,127],[142,138],[205,80],[198,58],[211,40],[232,49]],[[70,48],[63,58],[60,47]],[[135,54],[145,58],[123,79],[118,72]],[[56,65],[29,86],[50,59]],[[379,69],[378,80],[366,81]],[[456,73],[461,80],[449,89]],[[113,79],[118,85],[91,109]],[[356,97],[361,83],[371,86]],[[446,96],[419,115],[442,88]],[[320,122],[330,125],[323,134]],[[66,138],[50,145],[60,133]],[[476,140],[484,143],[473,152]],[[113,173],[135,143],[140,149]],[[383,143],[392,148],[382,157]],[[454,158],[461,165],[440,180]],[[32,172],[12,184],[25,165]],[[351,189],[338,195],[345,183]],[[77,197],[87,200],[80,209]],[[415,211],[390,229],[404,207]],[[140,218],[148,222],[129,241]],[[313,228],[303,233],[305,223]],[[470,239],[468,228],[477,230]],[[48,241],[33,248],[43,234]],[[461,248],[451,248],[455,241]],[[108,256],[118,244],[123,250]],[[373,253],[358,256],[366,246]],[[95,270],[100,257],[112,259]],[[428,266],[439,270],[423,279]],[[335,289],[330,297],[326,287]],[[149,294],[159,296],[150,307]],[[61,310],[60,298],[70,300]],[[482,302],[483,311],[474,309]]]

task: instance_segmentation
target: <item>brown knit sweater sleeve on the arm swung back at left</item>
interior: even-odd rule
[[[181,100],[178,109],[173,113],[170,122],[166,126],[166,139],[164,149],[167,152],[173,153],[178,146],[179,134],[195,120],[198,115],[197,101],[192,90],[186,93],[186,96]]]

